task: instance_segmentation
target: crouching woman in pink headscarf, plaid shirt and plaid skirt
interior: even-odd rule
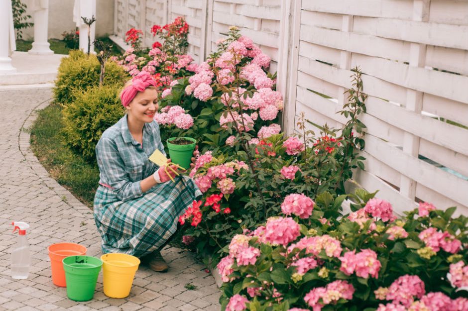
[[[202,193],[186,176],[170,173],[175,183],[170,182],[164,167],[148,160],[156,149],[165,154],[153,120],[158,108],[155,85],[141,72],[120,93],[127,113],[96,145],[100,181],[94,216],[104,253],[144,257],[151,269],[167,271],[159,251],[177,229],[178,217]]]

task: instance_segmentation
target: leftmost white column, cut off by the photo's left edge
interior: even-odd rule
[[[10,14],[9,1],[0,1],[0,73],[16,72],[16,68],[11,65],[11,58],[8,57]]]

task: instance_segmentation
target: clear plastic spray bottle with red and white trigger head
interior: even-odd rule
[[[29,274],[31,257],[29,255],[29,243],[26,239],[26,229],[29,225],[23,221],[13,221],[13,232],[18,230],[16,245],[11,252],[11,277],[13,279],[26,279]]]

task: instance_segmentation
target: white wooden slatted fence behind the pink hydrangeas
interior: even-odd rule
[[[115,33],[123,38],[130,27],[142,29],[146,45],[154,41],[153,24],[185,16],[189,53],[197,61],[230,25],[238,26],[273,60],[270,71],[278,71],[288,133],[302,111],[314,123],[341,126],[345,120],[336,111],[351,87],[350,69],[359,66],[369,95],[361,117],[367,160],[355,181],[368,191],[380,189],[378,196],[399,211],[422,200],[468,214],[467,0],[115,4]]]

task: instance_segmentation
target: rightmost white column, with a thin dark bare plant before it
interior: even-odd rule
[[[81,17],[91,19],[94,15],[96,17],[96,0],[75,0],[75,7],[73,12],[73,21],[76,26],[80,28],[80,50],[88,52],[88,25],[83,22]],[[90,53],[96,54],[94,51],[94,38],[96,33],[96,22],[91,25],[90,29]]]

